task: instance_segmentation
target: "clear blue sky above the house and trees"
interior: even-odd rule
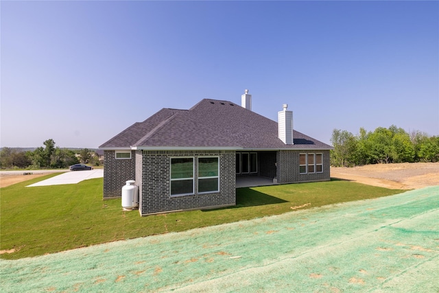
[[[97,148],[161,108],[239,103],[330,143],[439,135],[438,1],[1,1],[2,147]]]

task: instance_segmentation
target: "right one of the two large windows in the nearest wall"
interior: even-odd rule
[[[219,158],[199,157],[198,158],[198,192],[219,191]]]

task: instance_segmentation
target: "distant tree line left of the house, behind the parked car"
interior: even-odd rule
[[[44,147],[34,151],[23,152],[14,148],[2,148],[0,152],[0,167],[2,169],[64,169],[78,163],[99,166],[99,155],[84,148],[73,152],[67,148],[55,146],[53,139],[47,139]]]

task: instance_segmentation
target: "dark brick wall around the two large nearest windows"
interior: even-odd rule
[[[175,156],[194,157],[195,170],[198,156],[219,156],[219,192],[197,194],[195,172],[195,194],[171,197],[169,167],[171,157]],[[143,151],[141,165],[143,167],[141,189],[139,189],[141,215],[236,204],[235,151]]]

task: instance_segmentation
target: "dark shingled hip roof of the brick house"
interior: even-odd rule
[[[329,150],[296,130],[294,144],[278,139],[278,124],[233,102],[202,99],[189,110],[163,108],[99,146],[101,149],[217,148],[244,150]]]

